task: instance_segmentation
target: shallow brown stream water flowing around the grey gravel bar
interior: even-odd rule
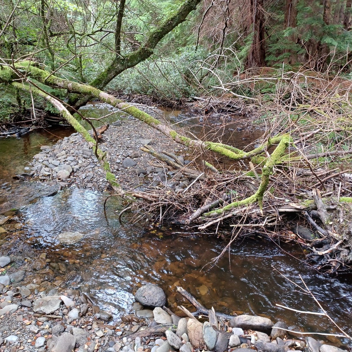
[[[179,113],[168,118],[175,122],[194,118],[187,116]],[[248,134],[233,130],[229,135],[237,141],[244,138],[237,133]],[[63,137],[72,131],[51,132]],[[255,133],[258,135],[243,142],[253,142],[262,132]],[[221,253],[226,242],[199,237],[180,228],[149,229],[125,221],[120,224],[121,204],[117,198],[110,198],[104,209],[106,195],[71,187],[29,201],[41,186],[13,180],[12,176],[25,172],[26,162],[40,145],[52,144],[57,137],[38,131],[26,138],[0,139],[0,207],[1,203],[4,210],[15,203],[16,208],[26,204],[10,224],[4,225],[8,232],[0,235],[0,255],[14,254],[33,264],[25,284],[41,276],[62,287],[90,292],[102,309],[113,313],[115,320],[130,311],[133,293],[145,282],[161,285],[172,310],[176,311],[180,304],[191,308],[176,292],[176,287],[181,286],[204,306],[213,306],[220,312],[264,315],[274,321],[284,320],[297,331],[337,333],[325,317],[275,305],[319,312],[314,300],[294,285],[302,285],[301,275],[335,321],[352,333],[351,278],[319,274],[301,261],[304,254],[299,247],[281,244],[280,248],[270,241],[240,238],[212,266],[213,258]],[[50,259],[50,265],[34,270],[43,253]],[[339,345],[336,338],[329,339]]]

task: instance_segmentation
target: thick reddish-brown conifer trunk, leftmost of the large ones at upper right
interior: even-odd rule
[[[253,35],[247,57],[247,68],[265,66],[265,14],[264,0],[250,0],[248,4],[248,29]]]

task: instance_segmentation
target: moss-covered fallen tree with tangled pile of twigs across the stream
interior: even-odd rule
[[[224,226],[225,228],[232,226],[233,233],[237,234],[240,233],[240,230],[245,229],[253,234],[264,233],[268,236],[281,232],[281,238],[303,241],[304,245],[312,251],[312,257],[320,268],[336,271],[340,267],[346,268],[347,263],[351,262],[352,236],[349,215],[351,210],[349,203],[352,202],[351,192],[345,191],[344,197],[342,197],[339,191],[337,196],[332,197],[336,192],[330,191],[329,193],[327,187],[334,178],[340,178],[344,182],[348,181],[341,178],[343,172],[327,176],[329,170],[325,174],[317,171],[316,167],[308,160],[310,156],[305,155],[297,147],[300,139],[295,140],[290,133],[278,133],[275,136],[268,133],[262,138],[262,143],[257,148],[243,151],[230,145],[198,140],[186,136],[184,133],[181,134],[136,106],[123,102],[92,86],[56,77],[30,61],[17,62],[12,65],[3,64],[0,68],[0,82],[12,84],[18,89],[31,92],[31,94],[40,95],[58,109],[63,118],[92,147],[105,171],[107,180],[119,195],[128,194],[130,200],[143,199],[143,202],[133,202],[132,206],[128,207],[132,212],[140,213],[141,207],[145,209],[147,203],[149,213],[159,222],[176,222],[188,227],[197,226],[199,230],[213,229],[212,231],[215,233],[218,233],[219,228],[223,229]],[[176,142],[198,150],[206,167],[204,170],[185,168],[176,159],[170,161],[170,153],[167,151],[165,151],[165,155],[169,158],[165,158],[145,146],[143,147],[144,151],[161,159],[171,168],[180,170],[193,180],[190,185],[192,187],[188,187],[182,195],[170,192],[169,189],[126,193],[119,186],[104,153],[99,149],[99,138],[95,140],[70,114],[69,107],[65,106],[64,102],[47,93],[36,82],[66,89],[70,93],[92,95],[109,103],[161,131]],[[320,131],[320,129],[316,129],[316,133],[320,133]],[[346,126],[344,131],[350,133],[350,126]],[[313,135],[314,133],[310,133],[309,137]],[[210,152],[226,156],[232,161],[249,159],[252,165],[251,171],[248,169],[231,172],[221,170],[219,173],[213,165],[206,161],[210,157]],[[349,153],[349,151],[345,151],[345,153],[337,151],[335,157]],[[321,153],[319,155],[320,157],[324,156]],[[332,155],[332,153],[325,153],[325,156],[331,157]],[[311,195],[298,196],[295,191],[290,190],[290,188],[296,189],[297,172],[302,170],[307,172],[307,167],[302,167],[302,164],[308,165],[310,170],[310,175],[306,174],[304,177],[307,184],[310,184]],[[275,174],[280,177],[274,176]],[[325,177],[321,178],[322,175]],[[317,180],[318,185],[324,189],[325,198],[320,196],[319,191],[314,190],[317,187]],[[280,194],[281,196],[279,196]],[[307,196],[310,200],[304,199]],[[313,212],[314,208],[316,209],[315,213]],[[293,235],[289,231],[287,214],[301,214],[313,227],[314,232],[312,232],[311,238],[300,237],[298,231]],[[284,234],[283,231],[285,231]]]

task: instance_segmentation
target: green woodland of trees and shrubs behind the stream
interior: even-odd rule
[[[28,59],[62,78],[169,105],[229,90],[272,93],[270,81],[258,91],[233,84],[267,74],[263,67],[351,74],[351,0],[5,0],[0,10],[1,64]],[[3,120],[41,103],[4,89]],[[89,99],[49,93],[76,107]]]

